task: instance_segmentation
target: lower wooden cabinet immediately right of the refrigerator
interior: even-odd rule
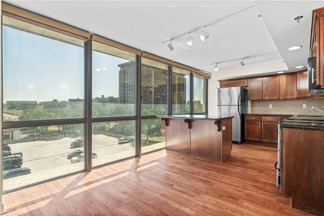
[[[244,131],[246,140],[261,141],[261,116],[246,116]]]

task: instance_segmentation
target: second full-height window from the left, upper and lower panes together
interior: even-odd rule
[[[92,42],[92,166],[135,156],[135,54]],[[127,120],[125,120],[127,118]]]

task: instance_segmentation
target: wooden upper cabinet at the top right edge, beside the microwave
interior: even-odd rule
[[[316,79],[317,85],[324,85],[324,8],[313,10],[311,35],[310,35],[310,57],[316,57]]]

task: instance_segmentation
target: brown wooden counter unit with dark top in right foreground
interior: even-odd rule
[[[290,207],[324,215],[324,116],[295,115],[279,125],[280,191]]]

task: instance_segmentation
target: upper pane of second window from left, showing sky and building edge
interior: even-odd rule
[[[135,115],[135,54],[93,42],[92,116]]]

